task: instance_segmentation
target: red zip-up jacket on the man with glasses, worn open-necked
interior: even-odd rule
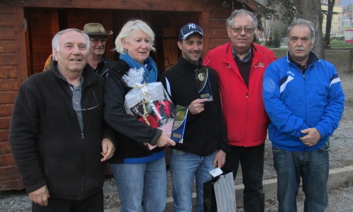
[[[266,140],[270,122],[262,101],[262,79],[266,67],[276,60],[272,50],[252,44],[254,54],[246,86],[233,58],[231,43],[210,50],[203,65],[217,71],[222,111],[231,146],[253,147]]]

